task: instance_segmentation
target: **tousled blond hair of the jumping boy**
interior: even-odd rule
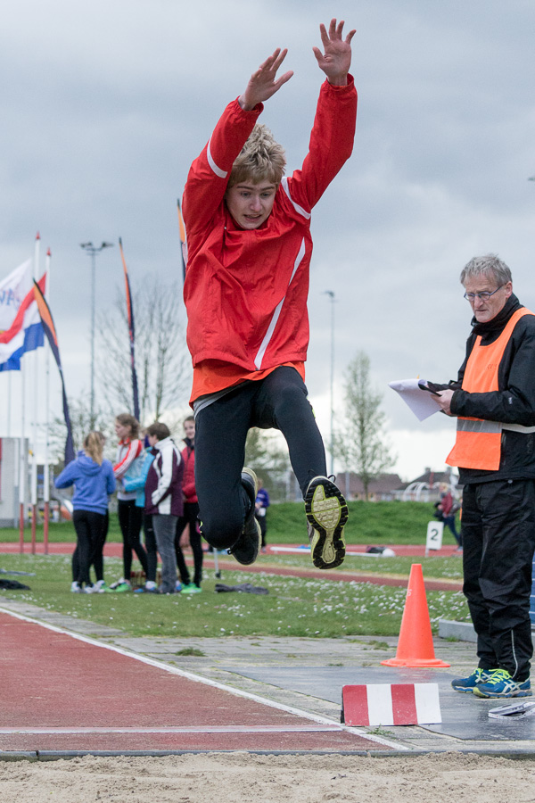
[[[276,142],[268,126],[257,123],[232,166],[228,187],[243,181],[271,181],[279,186],[284,176],[284,148]]]

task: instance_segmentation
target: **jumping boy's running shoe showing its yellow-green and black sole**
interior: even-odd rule
[[[312,563],[317,568],[340,566],[345,558],[343,528],[348,506],[341,491],[326,476],[315,476],[305,493]]]

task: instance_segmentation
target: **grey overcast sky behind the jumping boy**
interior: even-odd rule
[[[121,236],[134,289],[150,273],[178,277],[176,201],[189,164],[276,46],[288,47],[295,74],[262,120],[289,170],[300,167],[323,76],[312,46],[332,16],[357,29],[358,124],[353,156],[313,214],[307,385],[328,439],[330,290],[336,406],[344,368],[364,350],[408,478],[443,468],[455,425],[419,424],[387,383],[456,376],[471,317],[458,283],[465,262],[498,252],[535,309],[532,0],[10,4],[0,28],[0,276],[33,254],[39,230],[42,254],[53,252],[68,391],[87,390],[90,261],[79,244]],[[122,280],[117,246],[99,257],[97,277],[106,310]]]

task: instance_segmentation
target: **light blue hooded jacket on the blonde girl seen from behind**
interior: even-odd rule
[[[105,513],[108,509],[108,496],[115,491],[115,476],[110,460],[103,460],[102,466],[79,451],[76,460],[63,468],[54,480],[56,488],[69,488],[74,485],[72,507],[75,510],[91,510]]]

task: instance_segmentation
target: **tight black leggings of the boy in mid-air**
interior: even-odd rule
[[[326,473],[324,444],[295,368],[276,368],[200,410],[195,418],[195,489],[202,535],[218,550],[234,546],[249,511],[241,474],[251,426],[282,432],[303,495],[314,476]]]

